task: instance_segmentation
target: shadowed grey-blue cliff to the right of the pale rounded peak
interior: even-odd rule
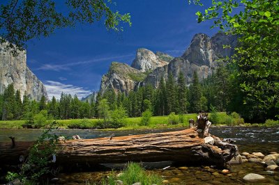
[[[236,36],[225,35],[225,33],[218,33],[212,38],[203,33],[196,34],[181,57],[174,58],[168,65],[153,70],[142,84],[151,83],[157,88],[162,77],[166,80],[172,73],[177,80],[179,72],[184,74],[188,85],[192,83],[195,71],[199,79],[206,79],[216,70],[218,59],[232,56],[236,42]],[[231,48],[224,49],[223,45],[230,45]]]

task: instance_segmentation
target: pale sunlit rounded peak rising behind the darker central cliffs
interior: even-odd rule
[[[172,61],[172,56],[157,52],[154,54],[152,51],[144,48],[137,49],[135,60],[132,63],[132,67],[141,72],[150,72],[157,67],[163,67],[167,65],[169,61]]]

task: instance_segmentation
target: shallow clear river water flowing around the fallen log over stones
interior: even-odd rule
[[[71,136],[77,134],[82,138],[127,136],[133,134],[147,134],[178,129],[149,129],[128,131],[98,131],[98,130],[57,130],[56,134]],[[239,146],[239,152],[262,152],[264,155],[270,152],[279,153],[279,128],[277,127],[211,127],[210,133],[220,138],[235,140]],[[10,140],[8,136],[15,136],[16,140],[35,140],[41,131],[36,129],[5,129],[0,130],[0,141]],[[221,170],[209,166],[177,165],[169,161],[158,163],[143,163],[143,166],[151,172],[163,176],[166,184],[279,184],[278,172],[266,172],[262,164],[241,163],[228,166],[230,173],[223,175]],[[166,166],[169,168],[163,170]],[[121,164],[104,164],[103,168],[92,167],[86,172],[60,173],[59,184],[86,184],[87,182],[100,182],[103,177],[110,175],[111,168],[114,172],[120,172]],[[182,168],[181,168],[182,167]],[[266,177],[264,182],[244,182],[243,177],[253,172]]]

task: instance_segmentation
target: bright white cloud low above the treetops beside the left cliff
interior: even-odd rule
[[[50,99],[53,96],[56,97],[56,99],[59,99],[62,92],[72,96],[76,94],[79,99],[92,93],[90,90],[86,90],[82,87],[67,85],[58,81],[46,81],[45,88],[47,89],[47,95],[50,97]]]

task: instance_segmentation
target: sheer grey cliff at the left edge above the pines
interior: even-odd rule
[[[5,43],[0,45],[0,94],[13,83],[22,96],[26,91],[31,99],[39,100],[42,95],[47,97],[45,86],[27,67],[26,51],[18,51],[18,55],[13,56],[10,51],[3,50],[3,45]]]

